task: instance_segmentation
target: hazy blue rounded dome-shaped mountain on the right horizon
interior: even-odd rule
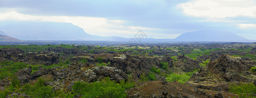
[[[183,33],[174,41],[248,41],[248,39],[231,32],[201,30]]]

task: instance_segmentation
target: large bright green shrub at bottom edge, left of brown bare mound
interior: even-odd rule
[[[82,98],[125,98],[127,96],[125,90],[134,87],[134,85],[133,81],[128,80],[128,82],[125,82],[122,80],[119,84],[106,77],[99,82],[93,83],[77,81],[72,86],[72,92],[82,94]]]

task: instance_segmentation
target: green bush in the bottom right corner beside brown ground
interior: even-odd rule
[[[239,98],[255,98],[256,87],[252,83],[230,84],[229,92],[239,95]]]

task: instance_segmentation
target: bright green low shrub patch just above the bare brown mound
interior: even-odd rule
[[[187,72],[185,74],[172,73],[166,78],[166,81],[174,82],[175,80],[177,80],[181,84],[184,84],[192,76],[192,74],[195,73],[196,71],[197,70],[193,70],[192,72]]]

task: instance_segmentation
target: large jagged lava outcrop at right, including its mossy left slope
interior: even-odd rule
[[[227,82],[250,82],[255,78],[249,71],[256,65],[255,61],[245,61],[241,57],[222,54],[218,59],[210,61],[207,68],[201,68],[193,74],[186,85],[206,90],[228,91]]]

